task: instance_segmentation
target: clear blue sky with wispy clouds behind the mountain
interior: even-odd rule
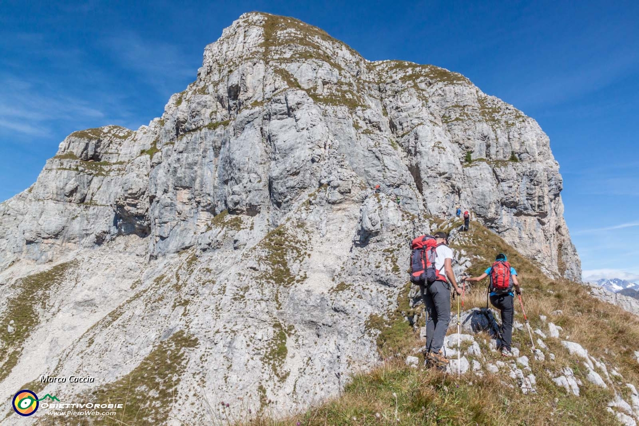
[[[293,16],[365,58],[431,63],[535,118],[588,276],[639,280],[636,1],[0,3],[0,200],[74,130],[131,129],[196,78],[243,12]]]

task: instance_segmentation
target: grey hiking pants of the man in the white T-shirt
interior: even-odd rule
[[[426,304],[426,352],[439,352],[450,320],[450,288],[448,283],[435,281],[424,291]]]

